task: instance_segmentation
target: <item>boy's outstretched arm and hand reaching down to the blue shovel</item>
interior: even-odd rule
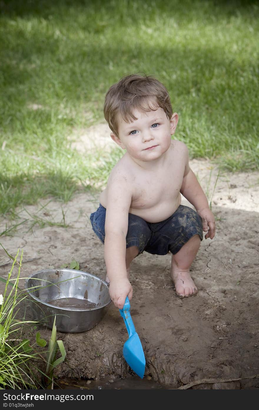
[[[133,294],[126,271],[126,235],[131,198],[125,175],[111,175],[107,185],[104,258],[110,281],[110,297],[119,309],[123,308],[126,296],[131,300]]]

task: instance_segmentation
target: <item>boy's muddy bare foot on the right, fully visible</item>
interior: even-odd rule
[[[176,294],[179,298],[188,298],[198,293],[194,281],[191,279],[189,269],[179,269],[173,264],[171,269],[171,278],[176,288]]]

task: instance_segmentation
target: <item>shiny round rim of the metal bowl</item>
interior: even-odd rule
[[[90,309],[68,309],[67,307],[54,306],[54,305],[51,305],[50,303],[43,302],[40,298],[37,298],[36,296],[34,296],[34,295],[32,294],[32,292],[29,290],[29,289],[32,289],[32,288],[29,288],[29,287],[28,287],[28,282],[29,282],[29,280],[32,279],[37,273],[46,272],[46,271],[63,271],[63,272],[70,272],[70,273],[73,272],[73,273],[79,273],[79,274],[82,274],[82,273],[83,273],[83,275],[85,275],[85,276],[90,276],[90,277],[92,277],[92,278],[98,279],[100,282],[104,283],[104,285],[106,285],[106,286],[109,288],[109,283],[106,282],[106,280],[99,278],[99,276],[94,275],[93,273],[84,272],[84,271],[78,271],[78,270],[76,270],[76,269],[67,269],[67,268],[64,268],[64,269],[63,269],[63,268],[62,268],[62,269],[55,269],[55,268],[51,268],[51,269],[41,269],[41,271],[33,272],[31,275],[27,276],[27,278],[24,279],[24,288],[25,288],[27,294],[28,294],[32,299],[34,299],[35,301],[37,301],[38,303],[41,303],[41,304],[43,304],[43,305],[45,305],[45,306],[50,306],[50,307],[52,307],[52,308],[54,307],[55,309],[65,310],[65,311],[69,311],[69,312],[91,312],[92,310],[103,309],[104,307],[108,306],[108,305],[110,304],[110,302],[111,302],[110,295],[109,295],[110,301],[109,301],[108,303],[106,303],[106,304],[103,305],[103,306],[91,307]]]

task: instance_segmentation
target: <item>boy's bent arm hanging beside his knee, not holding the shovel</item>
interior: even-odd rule
[[[182,187],[180,193],[192,204],[194,205],[197,213],[203,219],[203,230],[206,233],[205,239],[214,238],[215,235],[215,219],[212,211],[209,208],[208,200],[200,186],[195,174],[191,171],[189,167],[189,157],[188,150],[186,147],[186,164],[185,173],[182,180]]]

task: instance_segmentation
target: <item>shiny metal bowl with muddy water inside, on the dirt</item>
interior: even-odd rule
[[[30,296],[34,319],[52,328],[56,315],[56,329],[65,333],[92,329],[111,302],[109,285],[105,280],[75,269],[35,272],[25,279],[25,289]],[[61,307],[60,299],[68,301],[63,303],[65,307]],[[77,303],[71,303],[75,300]]]

